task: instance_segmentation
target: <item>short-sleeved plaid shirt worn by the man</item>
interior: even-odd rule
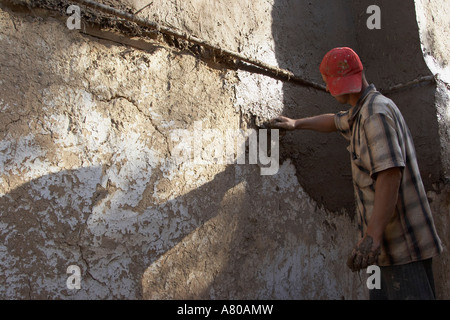
[[[442,252],[413,139],[394,102],[371,85],[355,107],[335,115],[335,124],[350,141],[348,150],[361,236],[373,211],[377,173],[402,168],[395,215],[385,229],[378,264],[406,264]]]

